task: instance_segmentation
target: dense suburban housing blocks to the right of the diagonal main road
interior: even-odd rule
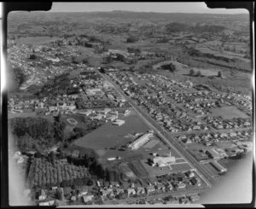
[[[143,105],[148,110],[148,113],[151,114],[152,118],[155,119],[160,125],[163,125],[167,131],[177,132],[177,131],[206,131],[209,129],[207,125],[212,125],[216,129],[231,129],[231,128],[242,128],[249,127],[251,124],[247,119],[236,119],[231,121],[218,120],[218,119],[207,119],[207,125],[204,124],[190,124],[183,125],[177,123],[176,119],[184,118],[187,121],[189,117],[187,113],[183,111],[178,111],[176,108],[173,109],[172,116],[170,114],[162,113],[160,106],[165,105],[166,107],[172,106],[172,102],[167,102],[163,96],[160,96],[160,93],[166,91],[168,96],[170,96],[175,102],[185,103],[183,107],[191,110],[192,113],[195,113],[197,116],[208,115],[211,113],[210,109],[214,107],[220,107],[221,105],[231,105],[232,102],[237,101],[236,96],[232,94],[218,94],[216,92],[208,90],[198,90],[195,92],[183,92],[173,88],[177,84],[180,87],[183,87],[182,84],[177,83],[173,80],[168,80],[165,76],[156,76],[156,75],[137,75],[141,79],[149,79],[151,82],[147,84],[151,89],[158,92],[157,95],[148,95],[148,90],[142,90],[142,87],[137,88],[137,92],[131,91],[131,86],[137,86],[137,82],[129,76],[127,73],[109,73],[109,76],[120,85],[120,87],[125,91],[126,95],[131,96],[137,101],[138,105]],[[146,85],[146,86],[147,86]],[[189,85],[190,87],[193,84]],[[143,95],[142,95],[143,94]],[[143,96],[145,99],[143,99]],[[217,101],[214,101],[217,100]],[[240,101],[240,100],[239,100]],[[153,104],[154,103],[154,104]],[[242,104],[246,105],[247,102]],[[198,122],[201,123],[201,122]]]

